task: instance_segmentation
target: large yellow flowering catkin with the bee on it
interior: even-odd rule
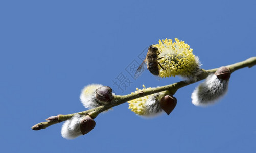
[[[175,42],[172,39],[159,40],[159,44],[154,47],[158,48],[158,62],[164,68],[158,66],[160,77],[180,75],[187,78],[187,81],[196,81],[201,72],[201,64],[188,44],[175,38]]]

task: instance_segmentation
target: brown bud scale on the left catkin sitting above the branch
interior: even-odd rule
[[[113,100],[112,89],[109,86],[102,86],[95,90],[96,98],[102,105],[111,105]]]

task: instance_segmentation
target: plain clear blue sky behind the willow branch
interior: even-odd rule
[[[61,125],[31,126],[84,111],[81,89],[108,85],[119,95],[156,87],[148,71],[126,71],[159,39],[179,38],[212,69],[255,56],[255,1],[1,1],[0,144],[3,152],[256,152],[256,67],[234,72],[227,95],[207,108],[191,103],[195,83],[177,91],[174,111],[142,119],[128,104],[100,114],[90,133],[61,137]],[[113,80],[132,82],[121,91]]]

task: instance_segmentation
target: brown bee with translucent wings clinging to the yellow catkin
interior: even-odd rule
[[[146,65],[147,65],[147,69],[150,71],[151,74],[156,75],[156,76],[159,75],[158,64],[162,69],[164,69],[164,67],[162,67],[162,65],[157,61],[162,58],[162,57],[158,58],[158,54],[159,54],[159,52],[156,47],[154,47],[153,45],[149,46],[146,58],[144,59],[142,64],[139,65],[137,71],[135,72],[135,75],[134,75],[135,79],[138,78],[139,75],[142,74]]]

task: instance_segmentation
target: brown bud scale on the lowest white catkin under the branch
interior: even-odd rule
[[[85,135],[86,133],[94,129],[95,125],[95,121],[89,115],[86,115],[80,122],[80,130],[82,134]]]

